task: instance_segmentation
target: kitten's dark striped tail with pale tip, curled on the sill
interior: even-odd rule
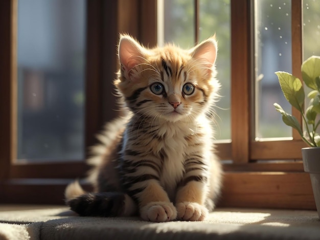
[[[65,189],[66,204],[82,216],[124,217],[136,213],[136,204],[124,193],[86,193],[79,182]]]

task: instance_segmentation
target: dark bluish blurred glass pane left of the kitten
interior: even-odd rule
[[[85,0],[18,1],[18,160],[84,157]]]

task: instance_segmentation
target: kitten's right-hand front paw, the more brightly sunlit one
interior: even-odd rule
[[[208,209],[198,203],[183,202],[176,204],[178,219],[186,221],[203,221],[208,215]]]

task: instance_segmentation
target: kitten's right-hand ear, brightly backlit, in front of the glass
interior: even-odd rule
[[[191,56],[203,64],[207,74],[211,74],[217,58],[217,49],[217,41],[213,36],[196,45],[191,50]]]

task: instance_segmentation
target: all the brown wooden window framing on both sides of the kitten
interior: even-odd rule
[[[217,143],[217,152],[221,159],[231,159],[232,163],[223,164],[219,206],[315,209],[310,178],[302,162],[267,161],[301,159],[301,148],[306,145],[298,133],[293,131],[292,140],[254,138],[253,4],[253,0],[231,0],[232,141]],[[84,161],[12,163],[16,146],[16,5],[17,0],[0,2],[0,203],[60,204],[66,183],[85,176],[88,167]],[[194,7],[198,11],[198,0],[194,0]],[[95,143],[95,133],[116,116],[116,99],[109,92],[118,67],[119,32],[130,33],[153,46],[157,39],[156,14],[156,0],[87,0],[86,146]],[[198,29],[199,19],[195,16]],[[302,0],[292,0],[291,20],[292,69],[300,77]],[[292,112],[301,121],[299,113],[294,109]]]

